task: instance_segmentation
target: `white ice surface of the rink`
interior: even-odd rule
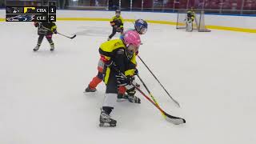
[[[117,127],[98,126],[105,86],[83,91],[97,74],[98,46],[108,22],[57,22],[55,51],[30,22],[1,22],[1,144],[254,144],[256,142],[255,34],[212,30],[186,33],[150,24],[140,56],[181,108],[166,95],[142,62],[141,77],[167,113],[186,124],[166,122],[141,94],[142,104],[118,102]],[[131,23],[125,23],[131,28]],[[118,38],[118,35],[116,35]],[[142,90],[146,90],[142,86]]]

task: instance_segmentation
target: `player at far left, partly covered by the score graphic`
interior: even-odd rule
[[[34,22],[34,26],[38,27],[38,44],[34,47],[34,51],[39,50],[39,47],[41,46],[42,40],[44,37],[48,40],[50,43],[50,50],[54,50],[54,42],[52,39],[53,34],[57,34],[57,26],[54,22]]]

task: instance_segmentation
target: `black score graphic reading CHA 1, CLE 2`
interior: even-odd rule
[[[55,6],[6,7],[6,22],[56,22]]]

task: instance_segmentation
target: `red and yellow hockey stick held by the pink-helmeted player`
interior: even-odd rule
[[[118,70],[118,68],[116,68],[115,66],[113,66],[114,70],[116,70],[119,74],[122,74],[122,72],[120,70]],[[126,78],[125,74],[122,74],[122,77]],[[132,86],[135,87],[136,90],[138,90],[148,101],[150,101],[155,107],[158,108],[158,110],[161,111],[161,113],[164,115],[164,118],[166,119],[166,121],[168,122],[172,122],[174,123],[174,125],[180,125],[182,123],[186,123],[186,120],[183,118],[178,118],[178,117],[174,117],[170,114],[167,114],[164,110],[162,110],[162,108],[160,106],[158,106],[158,104],[156,104],[155,102],[153,102],[148,96],[146,96],[146,94],[143,93],[143,91],[141,89],[139,89],[137,86],[135,86],[133,83],[131,83]]]

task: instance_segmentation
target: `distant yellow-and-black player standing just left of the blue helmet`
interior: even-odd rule
[[[115,16],[111,19],[110,25],[113,27],[112,28],[112,34],[110,34],[109,38],[107,39],[108,41],[114,37],[114,34],[117,32],[123,33],[123,19],[121,17],[121,10],[115,10]]]

